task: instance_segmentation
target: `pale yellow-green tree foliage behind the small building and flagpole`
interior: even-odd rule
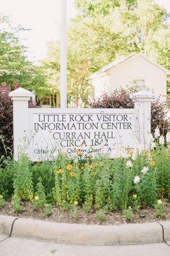
[[[86,106],[93,93],[88,76],[122,55],[144,52],[169,68],[168,13],[155,1],[75,0],[75,5],[78,14],[68,27],[68,102],[73,106]],[[49,87],[59,91],[59,42],[50,43],[43,67]]]

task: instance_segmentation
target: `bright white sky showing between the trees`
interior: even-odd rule
[[[170,0],[155,0],[170,12]],[[11,16],[13,25],[31,30],[20,33],[29,60],[38,64],[47,54],[47,43],[59,38],[60,0],[0,0],[3,15]],[[67,18],[75,17],[73,0],[67,0]]]

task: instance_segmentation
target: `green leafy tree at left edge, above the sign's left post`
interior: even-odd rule
[[[16,36],[22,28],[12,28],[8,17],[0,16],[0,84],[13,86],[19,83],[38,95],[45,88],[45,74],[26,58],[26,47]]]

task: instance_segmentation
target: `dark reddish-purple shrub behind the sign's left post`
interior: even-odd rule
[[[19,88],[18,84],[13,89]],[[13,106],[9,97],[10,86],[3,84],[0,87],[0,160],[1,157],[12,156],[13,152]],[[37,102],[38,104],[38,102]],[[36,102],[29,101],[29,108],[35,108]]]

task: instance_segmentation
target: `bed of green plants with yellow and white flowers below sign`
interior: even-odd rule
[[[136,212],[139,215],[147,207],[164,218],[170,154],[159,137],[156,130],[151,140],[154,149],[120,150],[115,159],[82,157],[80,150],[73,159],[60,155],[43,163],[32,163],[26,157],[18,162],[7,159],[0,169],[0,213],[8,200],[13,212],[24,212],[23,202],[30,202],[36,213],[50,216],[55,205],[61,212],[70,212],[75,220],[80,211],[95,212],[101,221],[106,214],[121,211],[132,221]]]

